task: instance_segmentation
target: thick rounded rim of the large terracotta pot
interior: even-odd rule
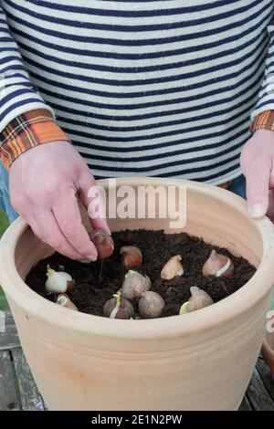
[[[63,309],[28,288],[16,270],[14,257],[16,244],[20,235],[29,227],[26,221],[19,217],[8,227],[0,241],[0,283],[7,296],[15,302],[19,301],[18,306],[26,311],[26,314],[74,331],[131,340],[155,339],[170,336],[171,333],[173,337],[192,335],[197,331],[201,332],[201,327],[204,331],[211,329],[216,324],[235,319],[238,315],[252,309],[260,298],[264,298],[269,293],[274,283],[274,227],[267,217],[260,220],[249,218],[247,204],[243,198],[220,187],[180,179],[122,177],[116,180],[119,185],[181,184],[186,185],[188,189],[226,201],[226,204],[233,206],[234,210],[247,216],[247,222],[252,223],[261,237],[263,254],[254,276],[229,297],[213,306],[195,311],[195,314],[194,312],[187,313],[184,317],[177,315],[162,319],[132,321],[131,319],[108,319]],[[97,183],[106,187],[108,179],[97,181]]]

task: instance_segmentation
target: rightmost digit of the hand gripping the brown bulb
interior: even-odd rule
[[[94,229],[104,229],[111,232],[106,220],[106,210],[99,192],[99,187],[97,187],[89,170],[82,174],[79,186],[79,197],[88,210],[92,227]]]

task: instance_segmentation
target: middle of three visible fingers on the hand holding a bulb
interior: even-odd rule
[[[52,211],[58,227],[68,243],[82,256],[82,259],[95,261],[98,256],[97,250],[82,225],[79,205],[73,188],[59,196],[58,202],[52,206]]]

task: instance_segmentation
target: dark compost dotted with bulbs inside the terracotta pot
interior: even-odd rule
[[[107,238],[108,257],[81,264],[55,253],[31,269],[26,284],[60,303],[58,292],[48,291],[49,269],[61,283],[64,278],[75,283],[67,290],[58,288],[69,298],[61,301],[73,304],[66,305],[68,309],[113,319],[154,319],[183,317],[227,298],[256,271],[243,257],[186,233],[141,229],[114,232],[111,237],[115,246]]]

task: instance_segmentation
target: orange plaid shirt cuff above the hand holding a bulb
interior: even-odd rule
[[[12,120],[0,132],[0,155],[8,169],[21,153],[38,144],[68,141],[68,137],[54,122],[48,110],[30,110]]]

